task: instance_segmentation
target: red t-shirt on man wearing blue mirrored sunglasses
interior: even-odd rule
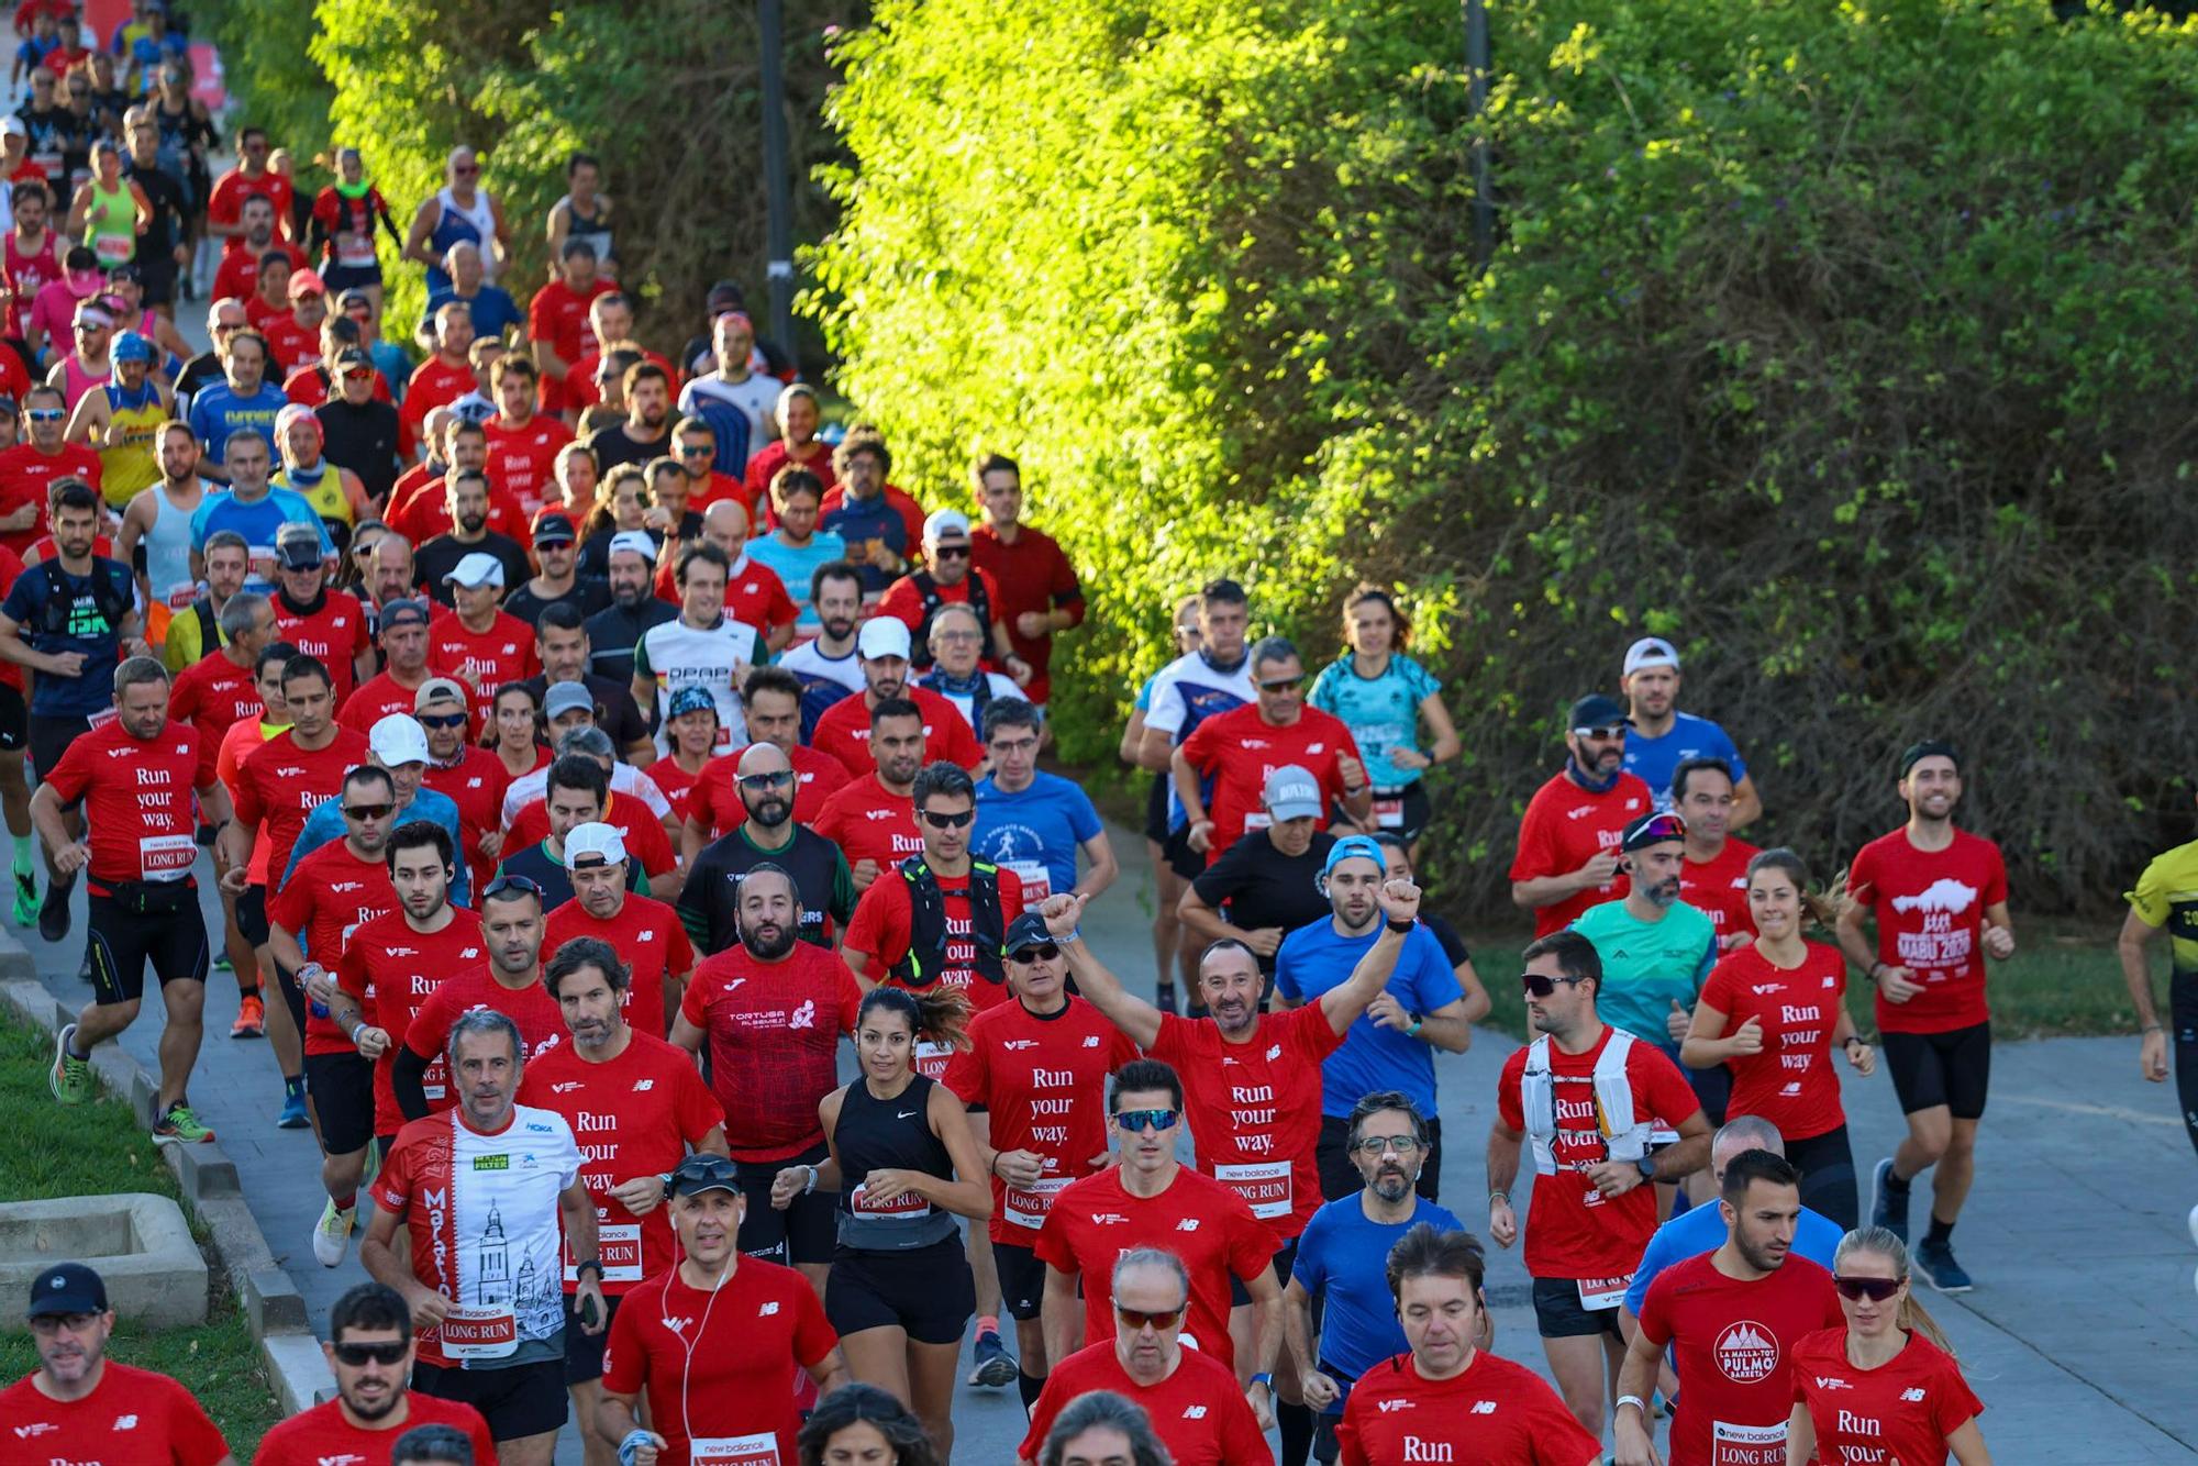
[[[1134,1246],[1158,1246],[1191,1275],[1191,1312],[1183,1321],[1200,1350],[1235,1367],[1229,1343],[1229,1279],[1253,1279],[1275,1262],[1281,1242],[1251,1213],[1242,1196],[1189,1167],[1158,1196],[1130,1196],[1121,1167],[1073,1180],[1053,1198],[1033,1253],[1048,1268],[1084,1279],[1084,1336],[1114,1336],[1114,1259]]]

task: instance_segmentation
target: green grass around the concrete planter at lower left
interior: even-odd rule
[[[13,1015],[0,1020],[0,1136],[7,1136],[0,1154],[7,1158],[9,1200],[154,1191],[182,1202],[160,1147],[125,1103],[53,1103],[46,1090],[51,1062],[51,1037]],[[191,1215],[187,1202],[185,1215]],[[204,1226],[196,1215],[191,1233],[204,1246]],[[235,1292],[218,1262],[211,1255],[207,1262],[215,1268],[213,1312],[202,1328],[147,1332],[116,1319],[108,1356],[182,1380],[222,1426],[229,1451],[248,1462],[259,1437],[279,1420],[279,1409]],[[18,1303],[0,1299],[0,1308]],[[35,1367],[37,1350],[29,1334],[0,1334],[0,1380],[18,1380]]]

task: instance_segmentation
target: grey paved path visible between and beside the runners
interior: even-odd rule
[[[1143,842],[1114,829],[1123,881],[1086,921],[1099,954],[1136,985],[1152,980],[1150,870]],[[207,881],[211,884],[211,881]],[[59,947],[24,939],[46,987],[81,1002],[77,932]],[[209,910],[211,901],[209,901]],[[1486,974],[1495,976],[1495,974]],[[306,1292],[314,1323],[358,1281],[356,1253],[341,1268],[312,1262],[308,1237],[321,1211],[310,1132],[275,1130],[279,1077],[264,1042],[231,1042],[237,991],[209,985],[207,1033],[191,1099],[235,1158],[253,1213],[275,1257]],[[158,1029],[125,1037],[147,1068]],[[1442,1193],[1468,1224],[1481,1220],[1481,1136],[1490,1092],[1512,1040],[1481,1033],[1470,1053],[1437,1062],[1444,1095]],[[1857,1163],[1886,1154],[1901,1121],[1884,1075],[1846,1077]],[[2172,1097],[2134,1075],[2123,1040],[2009,1044],[1996,1055],[1991,1117],[1978,1187],[1961,1224],[1961,1257],[1980,1279],[1963,1299],[1925,1292],[1961,1350],[1987,1404],[1985,1435],[2002,1462],[2128,1466],[2198,1462],[2198,1297],[2187,1213],[2198,1202],[2198,1163]],[[1917,1198],[1923,1215],[1928,1198]],[[1490,1268],[1497,1350],[1541,1367],[1525,1273],[1517,1253]],[[961,1459],[1009,1462],[1022,1437],[1013,1391],[965,1389],[956,1402]],[[569,1431],[567,1431],[569,1435]],[[567,1440],[560,1462],[578,1462]]]

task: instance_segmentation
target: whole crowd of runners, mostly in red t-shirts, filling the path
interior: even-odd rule
[[[1765,791],[1679,710],[1677,648],[1613,646],[1521,789],[1532,943],[1495,980],[1534,1037],[1444,1103],[1490,1000],[1416,884],[1459,738],[1398,598],[1303,651],[1229,578],[1154,607],[1178,655],[1121,738],[1154,960],[1117,976],[1081,939],[1108,831],[1037,767],[1086,602],[1011,457],[928,486],[974,517],[928,508],[730,284],[637,341],[593,158],[512,220],[457,149],[400,224],[356,149],[308,196],[246,127],[211,178],[158,0],[110,42],[66,0],[18,29],[13,914],[68,943],[84,886],[59,1103],[149,974],[154,1139],[211,1141],[233,982],[264,1123],[319,1141],[312,1255],[371,1281],[330,1317],[338,1396],[257,1459],[534,1466],[569,1426],[591,1466],[908,1466],[950,1459],[961,1385],[1013,1387],[1046,1466],[1989,1459],[1912,1297],[1972,1286],[2016,952],[1954,743],[1884,771],[1908,820],[1831,897],[1835,853],[1741,837]],[[385,327],[385,262],[426,270],[422,321]],[[2198,1139],[2194,864],[2145,870],[2121,954],[2165,1079],[2174,936]],[[1892,1156],[1857,1163],[1840,1066],[1899,1097]],[[1446,1117],[1486,1215],[1442,1204]],[[1488,1347],[1488,1246],[1523,1248],[1554,1389]],[[29,1319],[0,1462],[229,1459],[189,1380],[103,1356],[92,1268]]]

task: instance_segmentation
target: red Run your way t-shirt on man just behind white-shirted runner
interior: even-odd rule
[[[684,1048],[635,1029],[626,1033],[615,1059],[591,1064],[576,1044],[558,1044],[528,1064],[519,1084],[519,1103],[556,1110],[580,1143],[580,1185],[596,1200],[604,1297],[631,1292],[679,1257],[666,1207],[633,1215],[604,1193],[635,1176],[662,1176],[725,1123]],[[565,1292],[578,1284],[574,1262],[567,1242]]]

